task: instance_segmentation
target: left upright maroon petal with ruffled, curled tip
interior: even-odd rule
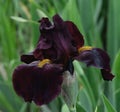
[[[46,50],[48,51],[48,49],[50,50],[52,48],[53,29],[54,29],[54,26],[50,23],[48,18],[42,18],[40,20],[41,35],[40,35],[40,39],[38,41],[37,47],[33,52],[36,59],[39,59],[39,60],[42,60],[44,58],[51,59],[50,57],[44,55],[44,51],[46,52]],[[52,50],[52,52],[53,52],[53,50]]]

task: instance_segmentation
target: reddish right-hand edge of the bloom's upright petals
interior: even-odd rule
[[[84,39],[76,25],[71,21],[66,21],[65,24],[73,37],[73,43],[77,46],[77,48],[82,47],[84,45]]]

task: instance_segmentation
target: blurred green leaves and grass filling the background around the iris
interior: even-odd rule
[[[61,95],[41,107],[25,103],[12,87],[12,72],[20,64],[20,55],[32,51],[39,38],[37,21],[56,13],[77,25],[86,45],[106,50],[116,75],[112,82],[103,81],[98,69],[75,61],[76,111],[120,112],[119,11],[119,0],[0,0],[0,112],[75,111],[68,109]]]

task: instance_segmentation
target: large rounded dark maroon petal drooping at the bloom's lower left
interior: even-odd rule
[[[13,73],[13,86],[25,101],[34,101],[37,105],[47,104],[61,91],[63,70],[57,64],[46,64],[43,68],[35,65],[18,66]]]

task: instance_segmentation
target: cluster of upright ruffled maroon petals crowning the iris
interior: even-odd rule
[[[37,59],[49,58],[56,63],[67,63],[69,57],[78,54],[77,47],[84,44],[83,37],[72,22],[64,22],[59,15],[40,21],[41,36],[34,50]]]

